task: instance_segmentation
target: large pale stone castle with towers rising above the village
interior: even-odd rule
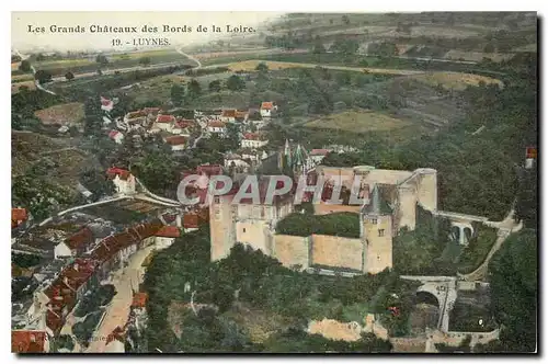
[[[302,171],[305,172],[305,171]],[[415,227],[416,204],[437,209],[437,175],[433,169],[397,171],[368,166],[354,168],[317,166],[307,175],[342,185],[361,179],[362,205],[313,204],[316,215],[339,212],[359,216],[359,238],[311,235],[294,237],[276,234],[276,225],[294,212],[290,193],[276,196],[272,205],[263,204],[267,178],[260,181],[261,203],[243,201],[231,204],[236,192],[215,196],[209,208],[212,261],[227,257],[241,242],[278,259],[282,264],[299,269],[346,269],[354,273],[378,273],[392,268],[392,237],[407,227]]]

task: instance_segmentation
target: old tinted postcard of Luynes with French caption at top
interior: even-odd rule
[[[26,353],[537,353],[535,12],[13,12]]]

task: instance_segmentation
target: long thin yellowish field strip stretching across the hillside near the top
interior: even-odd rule
[[[256,66],[261,62],[266,64],[269,69],[278,70],[286,68],[315,68],[321,66],[327,69],[342,70],[342,71],[355,71],[355,72],[367,72],[367,73],[383,73],[383,75],[422,75],[424,71],[407,70],[407,69],[389,69],[389,68],[363,68],[363,67],[344,67],[344,66],[329,66],[329,65],[317,65],[317,64],[300,64],[300,62],[288,62],[288,61],[273,61],[273,60],[244,60],[239,62],[233,62],[227,65],[231,71],[254,71]]]

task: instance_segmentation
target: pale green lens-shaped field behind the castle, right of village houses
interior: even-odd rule
[[[370,110],[346,111],[305,124],[306,127],[310,128],[341,129],[353,133],[386,132],[410,125],[410,122]]]

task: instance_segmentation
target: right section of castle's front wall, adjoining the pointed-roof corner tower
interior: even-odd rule
[[[312,235],[311,263],[363,271],[364,244],[361,239]]]

